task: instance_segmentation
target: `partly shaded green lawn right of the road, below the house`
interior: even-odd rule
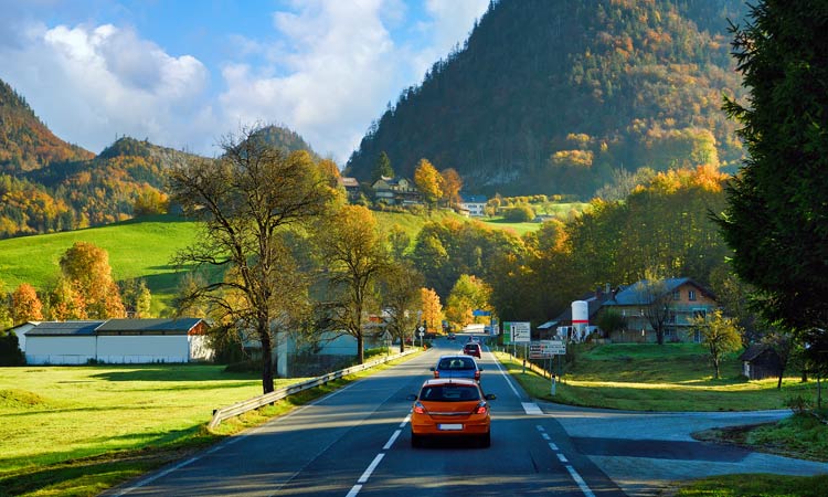
[[[522,362],[500,357],[510,371],[522,370]],[[539,399],[633,411],[752,411],[785,409],[795,395],[816,399],[816,382],[798,377],[785,378],[782,390],[776,379],[749,381],[736,357],[728,357],[716,380],[698,343],[603,345],[577,353],[554,396],[548,378],[518,373],[518,380]]]

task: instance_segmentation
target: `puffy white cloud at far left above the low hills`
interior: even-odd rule
[[[0,77],[61,138],[95,152],[118,136],[203,149],[214,121],[201,62],[170,56],[130,29],[112,24],[30,24],[26,40],[0,47]],[[193,121],[193,118],[200,121]]]

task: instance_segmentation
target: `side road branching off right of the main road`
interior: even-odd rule
[[[712,475],[828,474],[828,464],[699,442],[692,433],[713,427],[775,422],[788,410],[651,413],[539,402],[559,421],[577,450],[629,496],[657,496],[671,482]]]

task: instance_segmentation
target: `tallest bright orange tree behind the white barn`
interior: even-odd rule
[[[113,279],[109,254],[93,243],[75,242],[60,261],[61,272],[72,286],[74,302],[91,319],[126,316],[118,285]]]

